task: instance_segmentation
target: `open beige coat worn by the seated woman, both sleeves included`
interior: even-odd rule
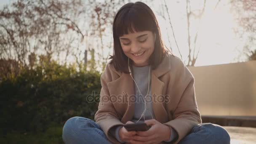
[[[151,80],[155,119],[177,131],[179,138],[174,142],[177,144],[193,126],[202,123],[197,108],[194,77],[181,59],[169,55],[152,70]],[[101,75],[101,86],[95,120],[109,141],[120,144],[109,134],[109,129],[115,125],[124,125],[133,117],[133,80],[129,74],[116,71],[115,67],[108,63]],[[128,101],[124,101],[125,98]]]

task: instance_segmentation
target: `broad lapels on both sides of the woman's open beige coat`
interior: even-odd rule
[[[108,88],[110,95],[120,96],[124,93],[128,95],[128,100],[130,104],[127,104],[127,109],[125,109],[125,114],[121,119],[122,123],[126,123],[127,121],[131,120],[134,115],[134,102],[130,101],[134,96],[134,85],[133,79],[131,75],[117,72],[115,68],[110,65],[109,66],[112,71],[116,72],[120,77],[117,80],[109,82]],[[155,114],[155,119],[160,123],[166,123],[168,121],[168,114],[165,111],[164,103],[159,101],[154,101],[159,99],[162,96],[163,88],[165,84],[158,79],[158,77],[164,75],[171,69],[171,58],[170,55],[165,56],[159,66],[152,70],[152,78],[151,78],[151,92],[152,92],[152,109]]]

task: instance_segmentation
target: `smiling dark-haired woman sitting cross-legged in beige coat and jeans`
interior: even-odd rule
[[[114,53],[101,75],[96,123],[72,117],[64,125],[66,144],[229,144],[220,125],[202,123],[194,77],[165,48],[152,10],[125,4],[113,23]],[[123,125],[144,121],[148,131]]]

